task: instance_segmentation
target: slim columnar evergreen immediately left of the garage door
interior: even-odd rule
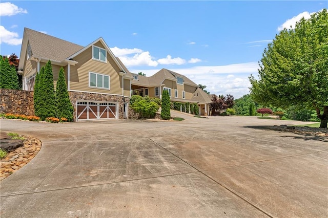
[[[56,105],[57,118],[66,118],[68,121],[73,120],[74,107],[70,101],[67,91],[66,80],[63,67],[60,68],[59,77],[56,85]]]

